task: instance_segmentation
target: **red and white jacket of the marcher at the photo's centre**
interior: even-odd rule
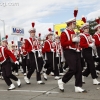
[[[56,52],[56,44],[52,41],[52,40],[46,40],[45,43],[44,43],[44,47],[42,49],[42,52],[43,53],[46,53],[46,52],[52,52],[52,50],[54,52]]]

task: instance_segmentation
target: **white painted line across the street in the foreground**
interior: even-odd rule
[[[8,91],[8,90],[0,90],[0,92],[5,92],[5,91]],[[56,91],[33,91],[33,90],[10,90],[10,91],[13,91],[13,92],[35,92],[35,93],[59,93]]]

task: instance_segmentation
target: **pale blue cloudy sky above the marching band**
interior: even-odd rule
[[[31,23],[35,22],[37,34],[42,37],[54,24],[73,18],[74,8],[78,7],[77,19],[84,15],[87,20],[100,16],[100,0],[0,0],[0,19],[5,22],[5,33],[9,40],[17,39],[11,35],[11,27],[22,27],[24,37],[28,37]],[[0,33],[4,36],[3,21],[0,21]]]

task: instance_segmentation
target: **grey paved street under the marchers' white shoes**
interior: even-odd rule
[[[58,89],[57,80],[54,80],[53,76],[48,77],[45,85],[37,84],[35,73],[30,80],[30,85],[25,83],[21,73],[18,77],[21,79],[22,86],[18,88],[16,82],[13,81],[16,89],[12,91],[8,91],[4,80],[0,79],[0,100],[100,100],[100,86],[93,85],[90,76],[85,78],[86,84],[83,85],[88,93],[74,92],[74,77],[64,85],[65,92],[63,93]]]

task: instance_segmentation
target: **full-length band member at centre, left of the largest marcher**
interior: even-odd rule
[[[49,75],[51,73],[51,71],[54,71],[54,76],[55,79],[59,79],[59,71],[58,71],[58,67],[57,67],[57,60],[56,60],[56,45],[53,42],[53,33],[51,28],[48,29],[49,33],[47,34],[47,38],[45,43],[44,43],[44,48],[43,48],[43,52],[45,53],[45,58],[46,59],[46,64],[45,66],[47,66],[47,70],[46,72],[43,73],[44,79],[47,80],[47,75]],[[44,68],[46,68],[44,66]]]

